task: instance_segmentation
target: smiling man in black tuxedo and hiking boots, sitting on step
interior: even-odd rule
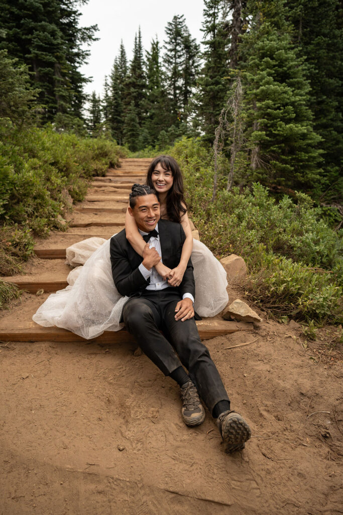
[[[154,269],[160,260],[170,268],[178,265],[184,230],[180,224],[160,220],[157,196],[149,186],[134,184],[129,213],[148,243],[141,258],[127,241],[125,230],[111,238],[113,280],[119,293],[130,297],[122,320],[142,351],[180,386],[184,422],[194,426],[204,421],[199,392],[217,419],[226,452],[241,450],[250,438],[250,428],[241,415],[230,411],[219,372],[198,335],[191,260],[178,287],[171,287]]]

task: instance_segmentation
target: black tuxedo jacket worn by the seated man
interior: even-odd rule
[[[180,224],[169,220],[159,220],[158,233],[163,263],[169,268],[175,268],[180,262],[182,247],[186,239],[185,232]],[[131,247],[126,238],[125,229],[112,236],[110,255],[112,276],[120,295],[139,297],[150,283],[150,278],[146,280],[140,273],[138,267],[143,258]],[[182,283],[175,289],[179,291],[181,298],[185,293],[190,293],[195,298],[191,260],[188,261]]]

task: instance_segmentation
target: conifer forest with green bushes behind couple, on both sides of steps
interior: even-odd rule
[[[294,279],[286,268],[301,263],[298,283],[301,274],[313,280],[306,267],[318,282],[305,294],[292,280],[282,301],[290,307],[280,313],[339,320],[341,3],[205,0],[201,41],[182,13],[149,48],[137,27],[132,55],[123,43],[111,49],[101,95],[84,91],[91,79],[80,66],[98,27],[80,26],[79,7],[0,0],[2,273],[28,259],[34,234],[61,227],[65,192],[81,200],[89,178],[120,157],[168,152],[182,166],[189,209],[211,250],[245,252],[251,272],[284,276],[277,286],[266,286],[270,274],[260,277],[260,293],[250,288],[256,301],[266,302],[265,288],[288,284],[287,274]],[[270,256],[286,261],[271,264]]]

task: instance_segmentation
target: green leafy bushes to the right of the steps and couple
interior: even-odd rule
[[[221,157],[218,193],[212,201],[212,155],[199,140],[172,149],[184,173],[187,202],[202,241],[218,257],[241,255],[251,272],[247,295],[261,307],[299,320],[341,321],[342,239],[320,218],[303,193],[279,202],[259,183],[225,190]]]

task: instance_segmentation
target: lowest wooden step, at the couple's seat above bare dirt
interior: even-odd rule
[[[208,340],[215,336],[235,333],[237,331],[250,331],[253,329],[252,323],[246,322],[226,322],[222,320],[201,320],[196,322],[197,329],[202,340]],[[41,327],[41,325],[29,322],[28,327],[20,329],[0,330],[1,341],[89,341],[77,334],[60,329],[57,327]],[[102,335],[94,338],[95,341],[110,344],[112,342],[134,342],[125,329],[120,331],[105,331]]]

